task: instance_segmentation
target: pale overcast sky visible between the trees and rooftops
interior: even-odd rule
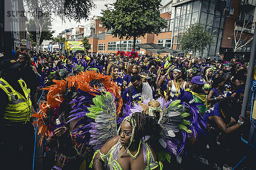
[[[113,3],[115,0],[93,0],[93,2],[96,5],[96,8],[91,11],[91,16],[96,15],[96,16],[101,16],[101,10],[105,9],[105,4],[107,3]],[[165,5],[169,0],[162,0],[162,5]],[[84,21],[81,21],[81,25],[83,25]],[[66,21],[66,23],[62,23],[61,19],[59,17],[55,17],[53,22],[52,22],[52,30],[55,31],[53,34],[54,37],[57,37],[57,35],[63,31],[64,29],[69,29],[69,28],[74,28],[77,27],[80,23],[76,22],[69,22]]]

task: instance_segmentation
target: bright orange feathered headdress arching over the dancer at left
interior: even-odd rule
[[[42,137],[50,138],[55,128],[54,127],[55,120],[58,118],[58,116],[61,115],[61,113],[63,113],[63,110],[64,110],[63,107],[66,107],[69,103],[71,104],[72,101],[76,102],[75,106],[79,107],[81,105],[82,109],[85,109],[84,111],[88,111],[86,110],[86,108],[83,107],[85,103],[83,100],[85,99],[86,103],[90,105],[93,103],[93,99],[95,98],[95,96],[100,94],[100,91],[98,90],[97,87],[90,86],[91,80],[97,80],[102,85],[104,85],[106,93],[109,93],[114,96],[114,105],[116,107],[116,112],[115,112],[116,115],[118,115],[121,112],[121,107],[122,107],[122,98],[120,96],[121,89],[116,85],[116,83],[111,81],[111,77],[104,76],[103,74],[99,74],[95,71],[81,72],[75,76],[69,76],[63,80],[52,80],[55,83],[54,85],[50,85],[46,88],[43,88],[49,91],[47,94],[47,102],[44,102],[42,105],[40,104],[41,110],[38,113],[32,114],[32,116],[38,118],[36,122],[33,122],[33,124],[36,124],[38,126],[38,129],[39,129],[38,134],[41,133]],[[82,96],[82,98],[73,99],[71,97],[68,97],[70,96],[71,92],[79,93],[80,96]],[[66,103],[66,104],[63,104],[63,103]],[[73,109],[75,106],[73,106]],[[71,106],[70,108],[68,108],[68,110],[70,109],[71,109]],[[64,112],[66,114],[64,116],[68,117],[70,115],[73,115],[73,112],[75,111],[74,110],[72,111],[72,109],[70,111],[66,111]],[[81,117],[81,111],[77,114],[78,115],[80,114],[80,117]],[[77,118],[79,117],[76,117],[76,119]]]

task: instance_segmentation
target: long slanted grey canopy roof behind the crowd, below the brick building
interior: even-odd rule
[[[136,46],[156,54],[162,54],[162,53],[180,54],[184,52],[180,50],[172,50],[172,49],[163,47],[162,45],[157,45],[154,43],[136,44]]]

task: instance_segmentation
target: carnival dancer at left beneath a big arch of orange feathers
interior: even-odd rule
[[[81,72],[53,82],[55,85],[45,88],[49,90],[47,102],[40,105],[41,110],[37,114],[32,115],[38,118],[34,123],[38,126],[38,133],[48,139],[49,145],[59,144],[55,168],[83,169],[87,154],[90,154],[86,145],[90,134],[84,132],[84,126],[95,119],[89,119],[85,112],[93,107],[94,102],[97,105],[99,102],[96,101],[102,99],[103,102],[107,101],[107,108],[110,109],[106,108],[105,112],[114,113],[116,118],[122,106],[120,88],[111,81],[110,76],[95,71]],[[102,102],[100,104],[101,107],[105,106]]]

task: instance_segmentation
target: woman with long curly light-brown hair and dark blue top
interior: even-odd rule
[[[108,64],[107,74],[111,76],[111,81],[115,82],[117,86],[122,87],[122,78],[118,77],[119,68],[113,62]]]

